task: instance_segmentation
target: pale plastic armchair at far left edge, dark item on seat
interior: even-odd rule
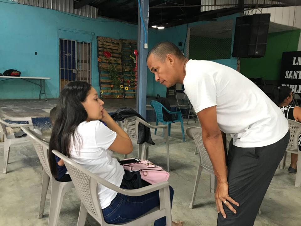
[[[4,120],[2,120],[1,118],[5,118],[8,119],[10,121],[28,121],[27,124],[12,124],[12,123],[8,123]],[[20,137],[20,138],[16,138],[14,136],[14,134],[8,134],[7,130],[6,130],[6,126],[12,127],[12,128],[19,128],[20,126],[25,126],[25,127],[29,127],[30,129],[34,130],[37,133],[40,133],[40,130],[36,130],[34,129],[34,126],[32,124],[31,118],[30,117],[24,117],[24,118],[15,118],[15,117],[9,117],[7,115],[5,115],[3,113],[3,111],[0,111],[0,132],[3,134],[4,136],[4,165],[3,165],[3,173],[6,174],[7,172],[7,165],[8,165],[8,159],[9,159],[9,151],[10,151],[10,146],[14,143],[21,143],[24,141],[29,140],[28,137]]]

